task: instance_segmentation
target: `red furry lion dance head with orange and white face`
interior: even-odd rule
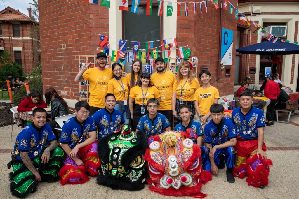
[[[166,131],[149,138],[145,153],[151,191],[162,195],[204,198],[202,184],[212,179],[210,172],[201,167],[201,149],[193,144],[193,131]]]

